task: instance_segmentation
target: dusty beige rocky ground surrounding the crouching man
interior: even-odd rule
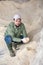
[[[31,41],[21,45],[12,58],[4,41],[4,32],[16,13],[21,15]],[[43,65],[42,28],[43,0],[0,1],[0,65]]]

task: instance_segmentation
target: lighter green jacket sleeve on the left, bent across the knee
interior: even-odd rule
[[[14,35],[14,29],[13,29],[13,24],[10,23],[6,29],[6,33],[5,33],[5,36],[6,35],[10,35],[12,37],[12,40],[14,42],[21,42],[21,39],[20,38],[16,38],[15,35]]]

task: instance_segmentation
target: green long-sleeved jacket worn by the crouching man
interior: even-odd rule
[[[5,32],[5,36],[10,35],[12,37],[12,40],[15,42],[21,42],[21,39],[19,38],[20,35],[23,35],[24,37],[27,37],[27,33],[25,30],[25,26],[23,23],[19,27],[16,27],[14,22],[11,22]]]

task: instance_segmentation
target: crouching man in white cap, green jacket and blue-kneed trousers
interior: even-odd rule
[[[15,15],[13,17],[13,22],[11,22],[5,32],[5,42],[7,44],[7,47],[10,51],[10,55],[13,57],[15,56],[15,52],[12,49],[12,43],[14,44],[14,47],[16,49],[16,45],[19,43],[27,43],[29,41],[29,38],[27,36],[25,26],[21,22],[21,16]]]

